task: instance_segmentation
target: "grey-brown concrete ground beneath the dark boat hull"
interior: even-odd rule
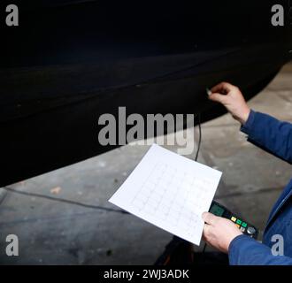
[[[250,106],[292,122],[291,74],[286,65]],[[291,167],[246,142],[238,129],[230,115],[205,123],[199,161],[223,172],[216,199],[263,230]],[[126,146],[11,186],[39,195],[0,188],[0,263],[153,264],[171,234],[131,215],[51,199],[114,208],[107,200],[147,149]],[[11,233],[19,237],[19,256],[5,255]]]

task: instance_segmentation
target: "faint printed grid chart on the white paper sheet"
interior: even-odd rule
[[[191,237],[204,209],[200,203],[208,199],[208,184],[202,176],[159,162],[131,204],[137,212],[171,223]]]

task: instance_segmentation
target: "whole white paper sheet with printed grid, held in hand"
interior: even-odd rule
[[[199,245],[221,175],[154,144],[109,202]]]

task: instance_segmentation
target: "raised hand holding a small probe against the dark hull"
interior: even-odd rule
[[[211,88],[209,98],[212,101],[223,104],[234,119],[242,125],[249,119],[250,107],[245,102],[241,90],[230,83],[221,82],[219,85]]]

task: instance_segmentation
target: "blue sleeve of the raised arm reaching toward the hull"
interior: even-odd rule
[[[249,142],[292,164],[292,124],[251,111],[241,130]]]

